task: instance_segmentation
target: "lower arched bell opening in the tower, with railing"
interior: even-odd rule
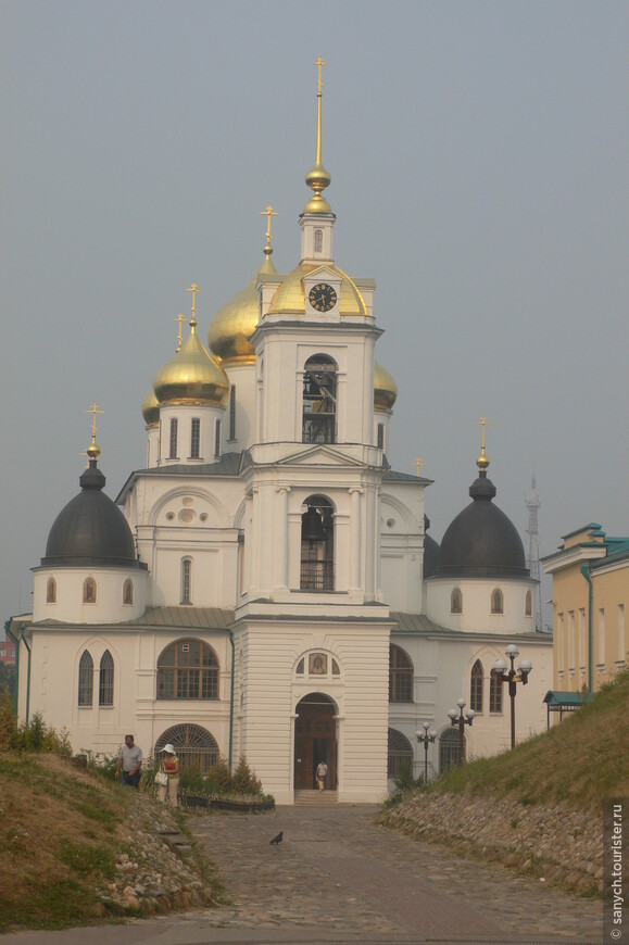
[[[335,519],[334,507],[325,495],[306,499],[301,516],[302,591],[335,589]],[[302,506],[303,507],[303,506]]]

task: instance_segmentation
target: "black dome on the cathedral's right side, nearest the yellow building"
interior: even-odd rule
[[[481,470],[469,487],[474,500],[461,512],[441,540],[437,578],[528,578],[521,538],[492,499],[493,482]]]

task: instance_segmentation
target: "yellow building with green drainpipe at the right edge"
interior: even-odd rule
[[[628,662],[629,538],[590,524],[542,558],[553,576],[553,688],[591,693]]]

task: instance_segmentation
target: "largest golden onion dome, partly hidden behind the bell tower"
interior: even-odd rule
[[[210,326],[207,343],[212,354],[229,364],[253,364],[255,352],[249,339],[260,317],[260,294],[255,288],[261,275],[277,275],[267,255],[244,289],[223,305]]]

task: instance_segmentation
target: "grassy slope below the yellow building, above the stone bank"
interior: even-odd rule
[[[517,700],[516,700],[517,711]],[[600,808],[629,795],[629,671],[561,724],[513,752],[453,769],[429,789],[511,797],[523,804]]]

